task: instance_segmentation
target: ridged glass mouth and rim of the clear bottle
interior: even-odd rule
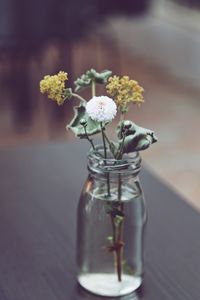
[[[115,159],[107,148],[107,158],[104,158],[103,145],[90,149],[88,155],[88,169],[95,173],[110,173],[137,175],[141,169],[142,159],[139,152],[124,154],[122,159]]]

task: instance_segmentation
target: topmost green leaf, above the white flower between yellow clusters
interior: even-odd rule
[[[83,88],[89,87],[92,81],[105,84],[107,83],[108,77],[112,75],[112,71],[103,70],[102,72],[97,72],[95,69],[88,70],[85,74],[81,75],[75,82],[75,91],[80,91]]]

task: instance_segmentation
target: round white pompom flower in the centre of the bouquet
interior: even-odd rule
[[[116,116],[117,106],[113,99],[107,96],[93,97],[86,104],[86,112],[94,121],[108,122]]]

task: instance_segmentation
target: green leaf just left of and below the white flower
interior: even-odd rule
[[[87,122],[86,130],[87,135],[91,136],[101,132],[101,126],[98,122],[93,121],[86,113],[85,105],[81,103],[79,106],[74,107],[74,118],[67,125],[67,129],[71,129],[77,137],[86,138],[84,127],[80,124],[80,121],[85,119]]]

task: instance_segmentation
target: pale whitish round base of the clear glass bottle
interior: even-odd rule
[[[119,282],[116,274],[82,274],[78,276],[80,285],[93,294],[107,297],[124,296],[135,291],[142,283],[141,277],[124,274]]]

